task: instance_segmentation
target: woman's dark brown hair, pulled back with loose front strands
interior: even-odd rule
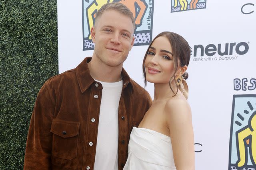
[[[178,35],[177,33],[168,32],[168,31],[165,31],[165,32],[162,32],[162,33],[156,35],[156,37],[150,43],[149,47],[152,45],[152,43],[155,41],[155,39],[160,37],[160,36],[166,37],[169,40],[170,45],[172,47],[173,64],[174,64],[174,69],[175,70],[174,70],[174,74],[170,78],[169,86],[170,86],[172,92],[176,95],[178,93],[178,84],[175,81],[176,92],[174,92],[174,90],[171,87],[171,82],[174,79],[174,76],[175,76],[176,71],[178,69],[178,63],[179,63],[178,61],[180,61],[180,66],[181,67],[185,66],[185,65],[188,66],[189,60],[190,60],[190,55],[191,55],[191,47],[188,45],[188,42],[186,41],[186,39],[184,39],[182,36]],[[142,70],[143,70],[143,74],[144,74],[145,86],[147,85],[146,70],[145,70],[145,60],[146,60],[146,57],[148,56],[149,47],[148,47],[148,49],[146,51],[146,54],[144,56],[143,63],[142,63]],[[185,72],[182,76],[186,80],[188,78],[188,73]]]

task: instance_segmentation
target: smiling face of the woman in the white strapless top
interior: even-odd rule
[[[146,80],[155,84],[169,83],[174,74],[172,47],[168,39],[160,36],[149,47],[145,60]]]

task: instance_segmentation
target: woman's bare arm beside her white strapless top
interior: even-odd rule
[[[188,102],[172,98],[164,112],[170,130],[174,162],[177,170],[194,170],[194,132]]]

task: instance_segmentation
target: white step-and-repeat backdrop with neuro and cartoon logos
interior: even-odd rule
[[[58,0],[59,73],[92,56],[95,12],[113,0]],[[196,170],[256,169],[256,1],[114,0],[136,18],[124,68],[144,86],[142,60],[162,31],[192,47],[188,66]],[[146,90],[154,97],[154,86]]]

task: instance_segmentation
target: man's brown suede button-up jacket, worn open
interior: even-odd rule
[[[75,69],[50,78],[40,89],[30,121],[24,169],[94,169],[102,85],[90,76],[87,65],[90,60],[87,57]],[[122,78],[124,86],[118,109],[119,170],[127,159],[132,127],[138,127],[152,104],[148,92],[124,69]]]

